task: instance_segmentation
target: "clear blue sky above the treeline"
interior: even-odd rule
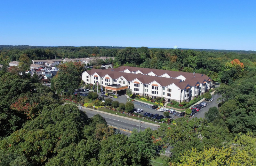
[[[256,50],[256,1],[3,0],[0,44]]]

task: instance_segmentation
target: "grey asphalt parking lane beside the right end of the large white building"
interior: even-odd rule
[[[209,108],[216,106],[218,108],[218,104],[220,103],[220,101],[217,101],[218,98],[220,98],[219,94],[212,94],[212,98],[213,101],[212,102],[208,102],[208,101],[204,101],[205,103],[207,103],[207,106],[204,108],[201,108],[199,112],[196,112],[193,117],[204,117],[205,112],[208,112]]]

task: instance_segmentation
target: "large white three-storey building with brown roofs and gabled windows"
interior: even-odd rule
[[[98,84],[106,90],[132,92],[152,98],[164,97],[170,102],[189,102],[209,91],[211,78],[199,73],[122,66],[116,69],[92,69],[82,73],[87,84]]]

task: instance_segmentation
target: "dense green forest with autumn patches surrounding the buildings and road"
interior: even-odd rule
[[[148,165],[148,159],[158,157],[167,145],[173,147],[173,155],[166,166],[256,165],[255,55],[147,47],[1,46],[0,165]],[[89,118],[76,106],[63,105],[60,96],[36,77],[20,76],[6,66],[13,60],[29,64],[55,56],[115,57],[115,67],[204,73],[222,82],[215,88],[222,94],[221,102],[204,119],[178,118],[176,125],[135,130],[127,137],[109,128],[103,117]],[[58,79],[54,84],[61,86]]]

